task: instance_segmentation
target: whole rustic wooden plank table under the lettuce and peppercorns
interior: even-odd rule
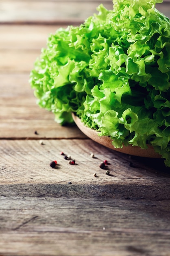
[[[170,256],[170,168],[61,127],[28,83],[48,34],[80,25],[100,2],[112,8],[111,0],[0,0],[0,256]],[[157,8],[170,16],[170,1]],[[105,159],[109,176],[99,168]]]

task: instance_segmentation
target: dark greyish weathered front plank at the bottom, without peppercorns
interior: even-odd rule
[[[0,202],[4,256],[169,255],[163,184],[5,185]]]

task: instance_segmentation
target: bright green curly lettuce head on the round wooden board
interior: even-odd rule
[[[30,83],[40,107],[123,145],[147,148],[170,166],[170,20],[161,0],[113,0],[79,27],[50,34]]]

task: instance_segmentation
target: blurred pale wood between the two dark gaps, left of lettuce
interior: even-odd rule
[[[41,47],[45,47],[47,35],[56,29],[56,26],[0,27],[3,38],[0,43],[3,59],[0,62],[0,138],[85,138],[76,126],[61,127],[51,112],[40,109],[29,85],[33,63]]]

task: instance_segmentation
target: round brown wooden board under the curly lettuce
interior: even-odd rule
[[[148,145],[147,149],[142,149],[137,146],[123,146],[123,148],[115,148],[111,144],[111,139],[109,136],[98,136],[98,131],[94,129],[90,129],[87,126],[84,126],[81,119],[79,119],[76,115],[72,114],[74,122],[78,126],[78,128],[90,139],[98,142],[99,144],[106,146],[107,148],[111,148],[113,150],[128,154],[128,155],[135,155],[139,157],[151,157],[151,158],[161,158],[161,155],[155,153],[152,146]]]

